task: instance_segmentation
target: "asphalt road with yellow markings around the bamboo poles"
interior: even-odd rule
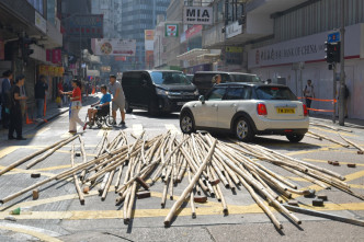
[[[86,116],[86,107],[81,110],[81,117]],[[155,118],[144,111],[135,111],[126,116],[125,128],[88,128],[82,131],[79,127],[79,134],[84,139],[86,151],[91,159],[104,131],[107,131],[110,137],[115,137],[120,130],[124,130],[130,141],[135,140],[130,134],[137,136],[143,130],[149,138],[167,130],[181,135],[178,118],[179,114]],[[117,120],[120,122],[120,116]],[[312,120],[325,123],[321,119]],[[353,132],[342,132],[342,135],[364,147],[364,129],[355,127],[350,129]],[[312,126],[310,130],[340,140],[334,130],[317,126]],[[67,131],[68,113],[65,113],[25,134],[29,138],[25,141],[1,142],[0,169],[61,138],[70,137]],[[223,135],[217,137],[225,139]],[[355,192],[364,195],[364,155],[357,154],[354,148],[348,149],[309,137],[295,145],[289,143],[285,137],[277,136],[258,137],[254,142],[341,173]],[[25,170],[23,164],[0,176],[0,198],[70,168],[70,147],[71,145],[61,148],[31,170]],[[77,149],[79,150],[78,146]],[[332,166],[327,163],[328,160],[339,161],[341,165]],[[81,162],[81,159],[77,158],[76,162]],[[356,168],[348,168],[348,162],[356,163]],[[322,191],[274,165],[266,164],[266,166],[289,177],[299,188],[310,186],[317,189],[317,194],[326,194],[329,197],[325,207],[312,207],[311,198],[296,197],[302,207],[364,220],[363,200],[335,188]],[[41,172],[41,178],[31,178],[30,174],[34,171]],[[174,199],[183,192],[186,184],[183,181],[174,187]],[[161,209],[161,182],[151,187],[151,198],[136,201],[134,219],[128,226],[123,223],[123,207],[115,206],[114,192],[110,192],[106,199],[101,201],[95,188],[87,195],[86,205],[82,206],[71,180],[49,183],[39,187],[39,191],[37,200],[32,199],[31,193],[26,193],[2,205],[0,241],[364,241],[363,227],[296,214],[303,220],[303,224],[297,227],[273,209],[284,226],[282,231],[277,231],[242,187],[239,187],[236,194],[224,188],[229,208],[228,216],[223,215],[221,205],[216,199],[209,199],[206,204],[197,205],[196,219],[191,218],[189,207],[182,209],[171,228],[163,227],[163,219],[173,201],[168,200],[167,208]],[[9,211],[18,207],[29,208],[31,211],[13,216],[15,221],[9,220]]]

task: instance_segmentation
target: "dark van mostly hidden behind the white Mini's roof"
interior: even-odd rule
[[[196,85],[201,95],[206,94],[207,91],[214,85],[212,80],[216,74],[221,76],[221,83],[261,82],[261,79],[257,74],[250,74],[243,72],[197,71],[193,76],[192,83]]]

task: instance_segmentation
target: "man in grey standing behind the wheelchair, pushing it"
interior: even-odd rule
[[[116,81],[116,76],[110,76],[110,91],[113,94],[112,99],[112,115],[114,118],[113,125],[116,125],[116,111],[121,111],[122,122],[120,125],[125,126],[125,95],[122,84]]]

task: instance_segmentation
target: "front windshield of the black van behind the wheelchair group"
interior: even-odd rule
[[[150,73],[155,84],[164,85],[190,85],[191,81],[181,72],[152,71]]]

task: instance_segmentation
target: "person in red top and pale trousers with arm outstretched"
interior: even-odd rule
[[[64,92],[60,91],[59,93],[62,95],[71,95],[70,101],[70,114],[69,114],[69,132],[76,134],[77,132],[77,124],[86,129],[87,123],[83,123],[80,117],[78,116],[81,107],[82,107],[82,94],[81,94],[81,82],[77,79],[72,80],[72,91]],[[76,124],[77,123],[77,124]]]

